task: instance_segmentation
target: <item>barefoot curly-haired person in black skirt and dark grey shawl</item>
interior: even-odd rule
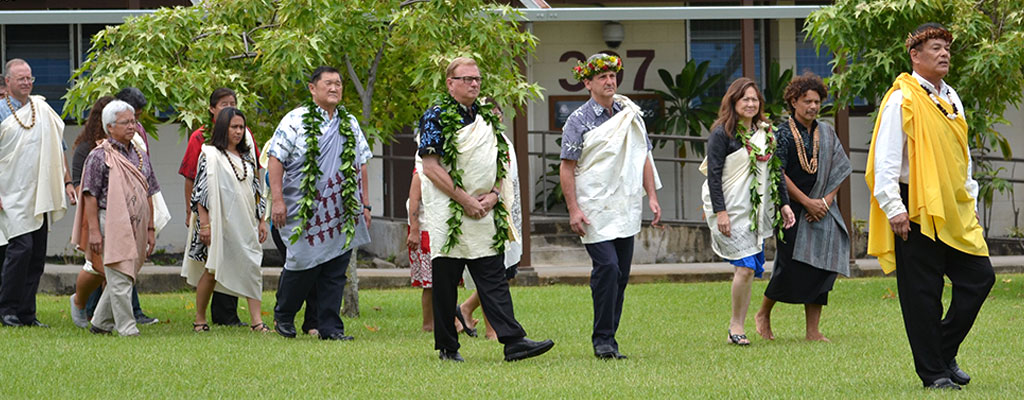
[[[831,126],[817,121],[827,92],[821,78],[795,78],[784,98],[791,117],[780,124],[777,154],[782,160],[790,206],[797,223],[776,242],[774,268],[755,316],[758,334],[775,339],[771,310],[776,302],[803,304],[808,341],[828,342],[818,329],[822,306],[838,273],[849,275],[850,240],[836,204],[850,161]]]

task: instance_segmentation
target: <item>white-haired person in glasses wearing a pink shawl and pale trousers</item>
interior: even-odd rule
[[[156,226],[153,199],[160,191],[150,157],[132,143],[135,109],[121,100],[103,107],[108,138],[89,152],[82,173],[82,203],[75,214],[72,241],[87,255],[101,253],[106,288],[92,316],[93,334],[138,336],[131,293],[142,262],[153,253]],[[82,223],[88,233],[81,234]]]

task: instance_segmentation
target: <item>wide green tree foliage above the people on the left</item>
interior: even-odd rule
[[[517,17],[483,0],[207,0],[163,8],[92,38],[63,113],[81,116],[131,85],[151,110],[174,110],[187,131],[209,121],[208,96],[226,86],[263,141],[308,98],[309,73],[326,64],[347,81],[342,103],[368,134],[387,141],[444,93],[443,69],[455,56],[477,59],[481,94],[499,104],[539,97],[541,87],[516,68],[537,46]]]

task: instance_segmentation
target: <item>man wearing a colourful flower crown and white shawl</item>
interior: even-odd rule
[[[640,232],[643,195],[662,219],[657,179],[642,110],[628,97],[615,94],[616,74],[623,61],[597,53],[574,66],[574,78],[590,91],[590,100],[572,112],[562,127],[559,176],[569,227],[580,235],[590,255],[591,298],[594,302],[594,355],[624,359],[615,331],[623,315],[623,299],[630,281],[633,236]]]

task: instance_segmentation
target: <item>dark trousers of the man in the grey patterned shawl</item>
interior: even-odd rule
[[[306,315],[309,315],[310,308],[315,309],[315,327],[321,337],[345,332],[340,312],[345,291],[345,272],[348,271],[351,256],[352,252],[348,251],[304,271],[283,269],[281,286],[278,287],[278,304],[273,307],[274,321],[295,323],[295,314],[302,308],[302,302],[309,296],[309,291],[315,288],[316,305],[310,307],[306,304]]]

